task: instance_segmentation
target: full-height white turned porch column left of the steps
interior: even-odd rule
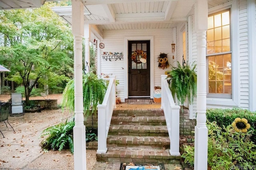
[[[74,90],[75,126],[74,169],[86,170],[86,138],[83,114],[82,86],[82,40],[84,34],[84,5],[81,0],[72,0],[72,33],[74,36]]]

